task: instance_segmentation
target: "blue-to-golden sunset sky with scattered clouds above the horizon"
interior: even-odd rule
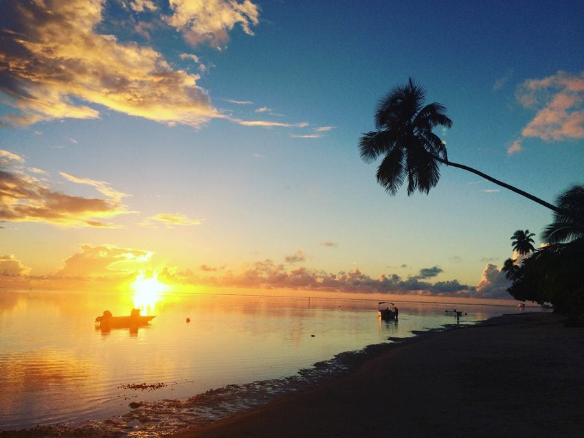
[[[552,211],[444,165],[390,196],[359,157],[409,77],[451,161],[584,183],[581,1],[2,5],[0,288],[508,297]]]

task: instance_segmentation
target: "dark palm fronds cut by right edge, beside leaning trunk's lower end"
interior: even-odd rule
[[[561,211],[554,214],[554,222],[541,233],[541,240],[550,244],[584,238],[584,185],[574,185],[557,198]]]

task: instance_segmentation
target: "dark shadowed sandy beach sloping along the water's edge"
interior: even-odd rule
[[[304,393],[186,437],[576,437],[584,328],[525,313],[420,336]]]

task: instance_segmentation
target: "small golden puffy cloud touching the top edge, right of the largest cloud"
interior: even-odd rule
[[[220,48],[227,43],[227,32],[240,25],[243,32],[254,35],[252,25],[259,23],[259,8],[249,0],[170,0],[173,14],[166,21],[183,32],[191,45],[209,43]]]

